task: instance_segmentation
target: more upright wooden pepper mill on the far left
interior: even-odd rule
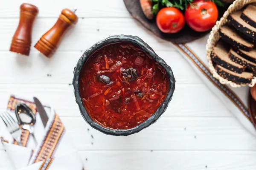
[[[28,3],[20,6],[20,22],[12,37],[10,51],[28,56],[31,46],[32,26],[38,8]]]

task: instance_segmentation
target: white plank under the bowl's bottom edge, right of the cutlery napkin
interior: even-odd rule
[[[137,134],[118,137],[94,130],[82,118],[61,120],[78,150],[256,151],[255,137],[238,120],[229,117],[162,117]]]

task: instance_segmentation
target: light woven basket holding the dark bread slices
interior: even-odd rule
[[[215,68],[212,65],[211,52],[212,52],[212,49],[215,46],[216,42],[218,42],[218,40],[220,39],[219,29],[221,28],[221,26],[223,26],[225,23],[227,23],[227,16],[230,13],[243,8],[244,6],[246,6],[249,3],[256,3],[256,0],[236,0],[236,1],[234,1],[234,3],[232,5],[230,5],[230,7],[224,13],[223,17],[219,21],[217,21],[216,25],[212,28],[212,31],[209,35],[209,38],[207,40],[207,45],[206,45],[209,69],[210,69],[213,77],[218,79],[221,84],[230,85],[231,87],[234,87],[234,88],[241,87],[241,85],[242,86],[248,85],[250,87],[253,87],[256,83],[256,77],[253,77],[252,82],[250,84],[249,83],[247,83],[247,84],[236,84],[235,82],[224,79],[223,77],[218,75],[218,73],[215,71]]]

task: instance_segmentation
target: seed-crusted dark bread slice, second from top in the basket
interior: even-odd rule
[[[235,11],[227,17],[227,20],[232,26],[234,26],[239,32],[247,35],[252,39],[256,39],[256,28],[250,26],[243,19],[241,19],[242,11]]]

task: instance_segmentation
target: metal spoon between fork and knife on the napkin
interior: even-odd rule
[[[35,125],[35,114],[25,103],[17,103],[15,106],[15,114],[18,120],[18,123],[25,130],[29,130],[29,133],[32,135],[35,145],[37,145],[37,140],[34,135],[34,125]]]

